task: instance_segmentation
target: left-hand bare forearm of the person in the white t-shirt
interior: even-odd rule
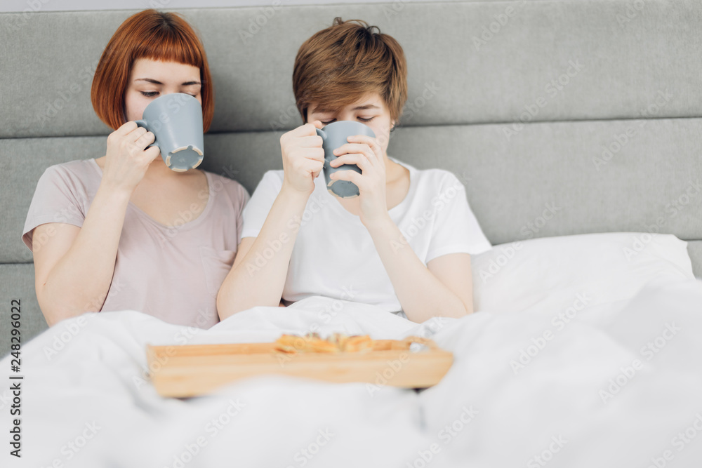
[[[251,248],[220,287],[217,310],[220,320],[258,305],[277,306],[283,294],[293,246],[310,194],[283,187]]]

